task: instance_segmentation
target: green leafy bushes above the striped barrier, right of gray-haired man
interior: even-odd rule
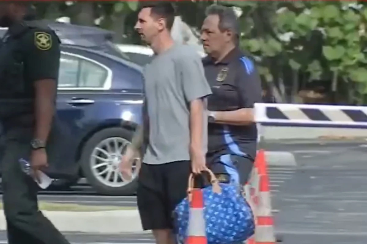
[[[330,90],[367,94],[367,8],[357,1],[223,1],[240,7],[247,26],[241,46],[258,57],[264,79],[295,95],[310,80],[330,80]],[[285,92],[287,89],[283,89]],[[338,90],[339,93],[343,91]],[[283,94],[283,98],[286,98]]]

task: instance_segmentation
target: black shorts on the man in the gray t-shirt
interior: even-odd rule
[[[143,230],[173,229],[172,210],[187,195],[190,161],[142,164],[137,189]]]

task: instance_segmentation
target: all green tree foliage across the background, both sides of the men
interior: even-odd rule
[[[367,100],[366,23],[363,1],[177,1],[178,13],[200,28],[205,8],[235,6],[242,12],[240,46],[254,56],[265,83],[283,101],[293,101],[313,80],[328,90]],[[99,25],[117,33],[116,42],[138,42],[133,27],[138,1],[68,1],[40,3],[42,16],[69,16],[73,23]],[[134,39],[134,37],[136,39]],[[366,100],[366,101],[365,101]]]

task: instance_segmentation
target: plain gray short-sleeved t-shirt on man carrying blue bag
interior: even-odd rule
[[[200,56],[174,44],[144,69],[149,143],[143,162],[166,164],[190,160],[190,101],[211,94]],[[206,108],[205,108],[206,109]],[[207,117],[203,114],[203,150],[207,152]]]

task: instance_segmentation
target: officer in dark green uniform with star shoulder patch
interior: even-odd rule
[[[2,166],[4,213],[9,244],[68,244],[37,204],[34,172],[48,166],[46,142],[53,123],[59,70],[59,39],[47,26],[26,22],[28,3],[0,3],[0,120],[5,144]],[[35,179],[38,174],[34,174]]]

